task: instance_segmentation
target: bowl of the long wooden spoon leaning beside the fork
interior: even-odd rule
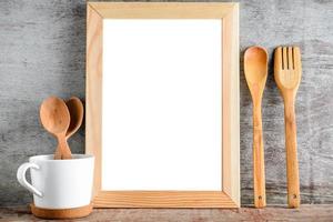
[[[244,54],[245,79],[251,94],[262,93],[268,79],[268,52],[261,47],[250,47]]]

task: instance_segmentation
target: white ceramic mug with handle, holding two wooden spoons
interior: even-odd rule
[[[33,193],[33,203],[42,209],[72,209],[89,205],[93,183],[94,158],[73,154],[71,160],[34,155],[18,169],[21,185]],[[30,169],[31,183],[26,179]]]

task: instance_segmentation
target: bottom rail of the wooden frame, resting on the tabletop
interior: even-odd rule
[[[94,208],[239,208],[220,191],[100,191]]]

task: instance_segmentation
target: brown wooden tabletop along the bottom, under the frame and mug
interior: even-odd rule
[[[283,206],[266,209],[98,209],[92,214],[75,221],[108,221],[108,222],[238,222],[238,221],[332,221],[333,205],[302,205],[301,209],[285,209]],[[36,219],[27,206],[0,209],[0,221],[40,221]]]

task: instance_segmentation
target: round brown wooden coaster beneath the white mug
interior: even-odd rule
[[[33,203],[30,204],[31,212],[34,216],[41,219],[77,219],[88,216],[92,212],[92,203],[81,208],[73,209],[41,209]]]

